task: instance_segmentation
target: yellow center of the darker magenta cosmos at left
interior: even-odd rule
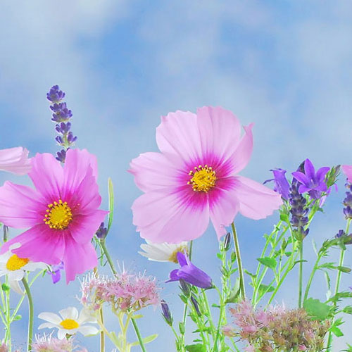
[[[54,203],[48,204],[43,220],[51,229],[65,230],[72,220],[72,210],[66,201],[63,202],[61,199],[58,203],[54,201]]]

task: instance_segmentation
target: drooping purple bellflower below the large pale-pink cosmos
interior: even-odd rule
[[[213,287],[210,276],[191,263],[186,253],[178,252],[177,260],[181,268],[172,270],[170,272],[170,279],[167,282],[183,279],[185,282],[201,289],[210,289],[210,287]]]

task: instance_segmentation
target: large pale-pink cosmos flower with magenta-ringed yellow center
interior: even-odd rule
[[[145,193],[132,205],[141,237],[177,243],[200,237],[213,222],[218,238],[234,216],[261,219],[282,204],[281,196],[237,175],[253,149],[252,125],[244,127],[223,108],[177,111],[161,118],[156,142],[161,153],[143,153],[130,163]]]

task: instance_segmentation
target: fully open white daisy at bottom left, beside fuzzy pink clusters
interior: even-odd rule
[[[86,322],[94,322],[92,315],[86,309],[82,309],[80,315],[78,315],[78,310],[75,307],[62,309],[58,313],[60,313],[61,317],[55,313],[40,313],[38,318],[47,322],[39,325],[38,329],[57,327],[58,339],[63,339],[66,334],[73,335],[76,332],[80,332],[84,336],[95,335],[99,332],[99,329],[92,325],[84,325]]]

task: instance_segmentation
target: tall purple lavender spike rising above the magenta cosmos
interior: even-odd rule
[[[46,99],[53,103],[50,108],[53,112],[51,120],[56,122],[56,132],[58,132],[58,136],[56,136],[56,142],[60,146],[63,146],[64,149],[58,151],[56,159],[61,161],[61,163],[65,162],[66,151],[70,146],[73,146],[77,137],[73,135],[73,132],[70,131],[71,122],[69,122],[70,118],[72,118],[72,111],[70,111],[65,102],[63,102],[63,98],[65,97],[65,93],[60,90],[58,85],[54,85],[51,87],[50,91],[46,93]]]

